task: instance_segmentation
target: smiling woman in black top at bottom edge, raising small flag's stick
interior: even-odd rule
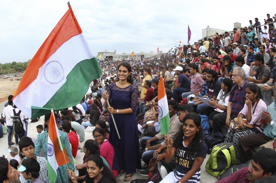
[[[88,176],[85,176],[83,183],[116,183],[113,174],[109,168],[104,165],[99,155],[92,155],[87,159],[86,170]],[[67,169],[67,172],[72,182],[77,182],[74,172],[69,169]]]

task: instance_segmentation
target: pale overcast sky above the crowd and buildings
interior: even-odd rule
[[[238,1],[97,1],[71,0],[75,16],[94,55],[104,50],[122,52],[163,52],[181,40],[201,39],[201,31],[210,28],[233,30],[233,23],[248,26],[258,17],[261,24],[274,6]],[[257,1],[256,1],[257,2]],[[226,1],[225,1],[226,3]],[[235,4],[235,6],[234,6]],[[67,11],[67,1],[1,1],[0,63],[31,59],[54,26]],[[258,11],[258,12],[256,12]]]

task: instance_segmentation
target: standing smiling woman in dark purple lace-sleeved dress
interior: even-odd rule
[[[125,171],[124,182],[131,180],[136,168],[141,167],[139,156],[139,137],[136,123],[137,88],[133,85],[131,66],[122,62],[118,66],[117,82],[111,83],[107,94],[103,94],[104,107],[113,114],[121,139],[119,139],[111,115],[109,116],[109,142],[114,148],[113,170],[119,170],[118,176]],[[106,100],[112,107],[108,107]]]

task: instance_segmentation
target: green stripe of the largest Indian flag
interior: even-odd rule
[[[43,108],[61,110],[77,105],[86,94],[91,81],[100,78],[101,75],[102,70],[96,57],[80,61],[67,75],[66,82]],[[36,111],[36,116],[43,116],[47,113],[45,110],[39,110]],[[35,116],[32,116],[31,119],[33,118]]]

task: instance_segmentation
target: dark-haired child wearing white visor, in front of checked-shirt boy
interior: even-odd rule
[[[47,183],[39,178],[40,165],[34,158],[24,159],[18,168],[18,172],[21,172],[22,176],[26,180],[31,180],[33,183]]]

